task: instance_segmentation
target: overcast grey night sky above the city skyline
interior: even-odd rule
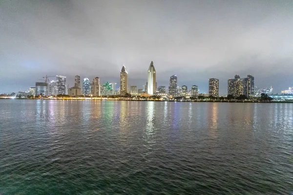
[[[45,75],[208,91],[208,79],[251,74],[255,86],[293,86],[293,0],[0,0],[0,93]],[[55,79],[55,78],[53,78]],[[118,85],[117,85],[118,86]]]

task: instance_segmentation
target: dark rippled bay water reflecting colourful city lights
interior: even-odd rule
[[[0,100],[3,195],[291,195],[293,104]]]

